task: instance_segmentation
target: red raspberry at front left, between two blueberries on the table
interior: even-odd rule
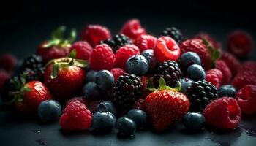
[[[59,125],[65,130],[84,130],[91,126],[91,112],[80,101],[72,101],[65,107]]]

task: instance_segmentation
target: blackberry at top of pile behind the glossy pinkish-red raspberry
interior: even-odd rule
[[[180,43],[183,40],[183,35],[181,34],[181,31],[176,27],[165,28],[165,30],[162,31],[161,35],[169,36],[173,38],[177,43]]]

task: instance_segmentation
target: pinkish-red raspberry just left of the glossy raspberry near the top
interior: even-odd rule
[[[143,50],[154,49],[156,43],[157,38],[149,34],[143,34],[135,40],[135,45],[140,48],[140,53],[142,53]]]

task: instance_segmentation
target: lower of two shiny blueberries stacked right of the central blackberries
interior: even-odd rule
[[[193,64],[187,69],[187,77],[194,81],[205,80],[206,72],[204,71],[202,66],[198,64]]]

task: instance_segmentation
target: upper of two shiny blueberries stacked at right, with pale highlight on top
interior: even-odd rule
[[[182,70],[186,71],[187,68],[192,64],[201,65],[201,60],[197,53],[187,52],[181,55],[179,59],[179,65],[181,66]]]

